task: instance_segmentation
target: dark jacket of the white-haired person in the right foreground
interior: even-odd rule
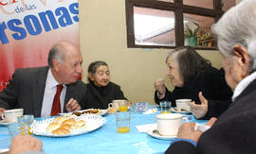
[[[177,142],[167,154],[253,154],[256,153],[256,79],[231,104],[194,147]],[[180,152],[186,149],[186,152]]]

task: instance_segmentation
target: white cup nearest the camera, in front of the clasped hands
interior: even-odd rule
[[[182,124],[182,114],[180,113],[165,113],[157,114],[157,130],[163,136],[177,135],[178,128]]]

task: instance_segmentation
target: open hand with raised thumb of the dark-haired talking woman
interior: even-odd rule
[[[199,92],[198,97],[201,104],[195,104],[194,101],[192,101],[191,103],[189,103],[189,105],[191,106],[192,114],[196,118],[201,118],[205,116],[208,111],[208,100],[204,97],[202,92]]]

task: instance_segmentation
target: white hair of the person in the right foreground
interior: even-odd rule
[[[242,45],[247,48],[250,57],[248,71],[256,70],[256,0],[243,0],[229,9],[211,28],[221,53],[230,58],[233,46]]]

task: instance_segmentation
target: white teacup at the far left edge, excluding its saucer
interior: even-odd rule
[[[2,119],[8,122],[17,122],[17,117],[23,115],[23,109],[13,109],[4,111],[2,114]]]

